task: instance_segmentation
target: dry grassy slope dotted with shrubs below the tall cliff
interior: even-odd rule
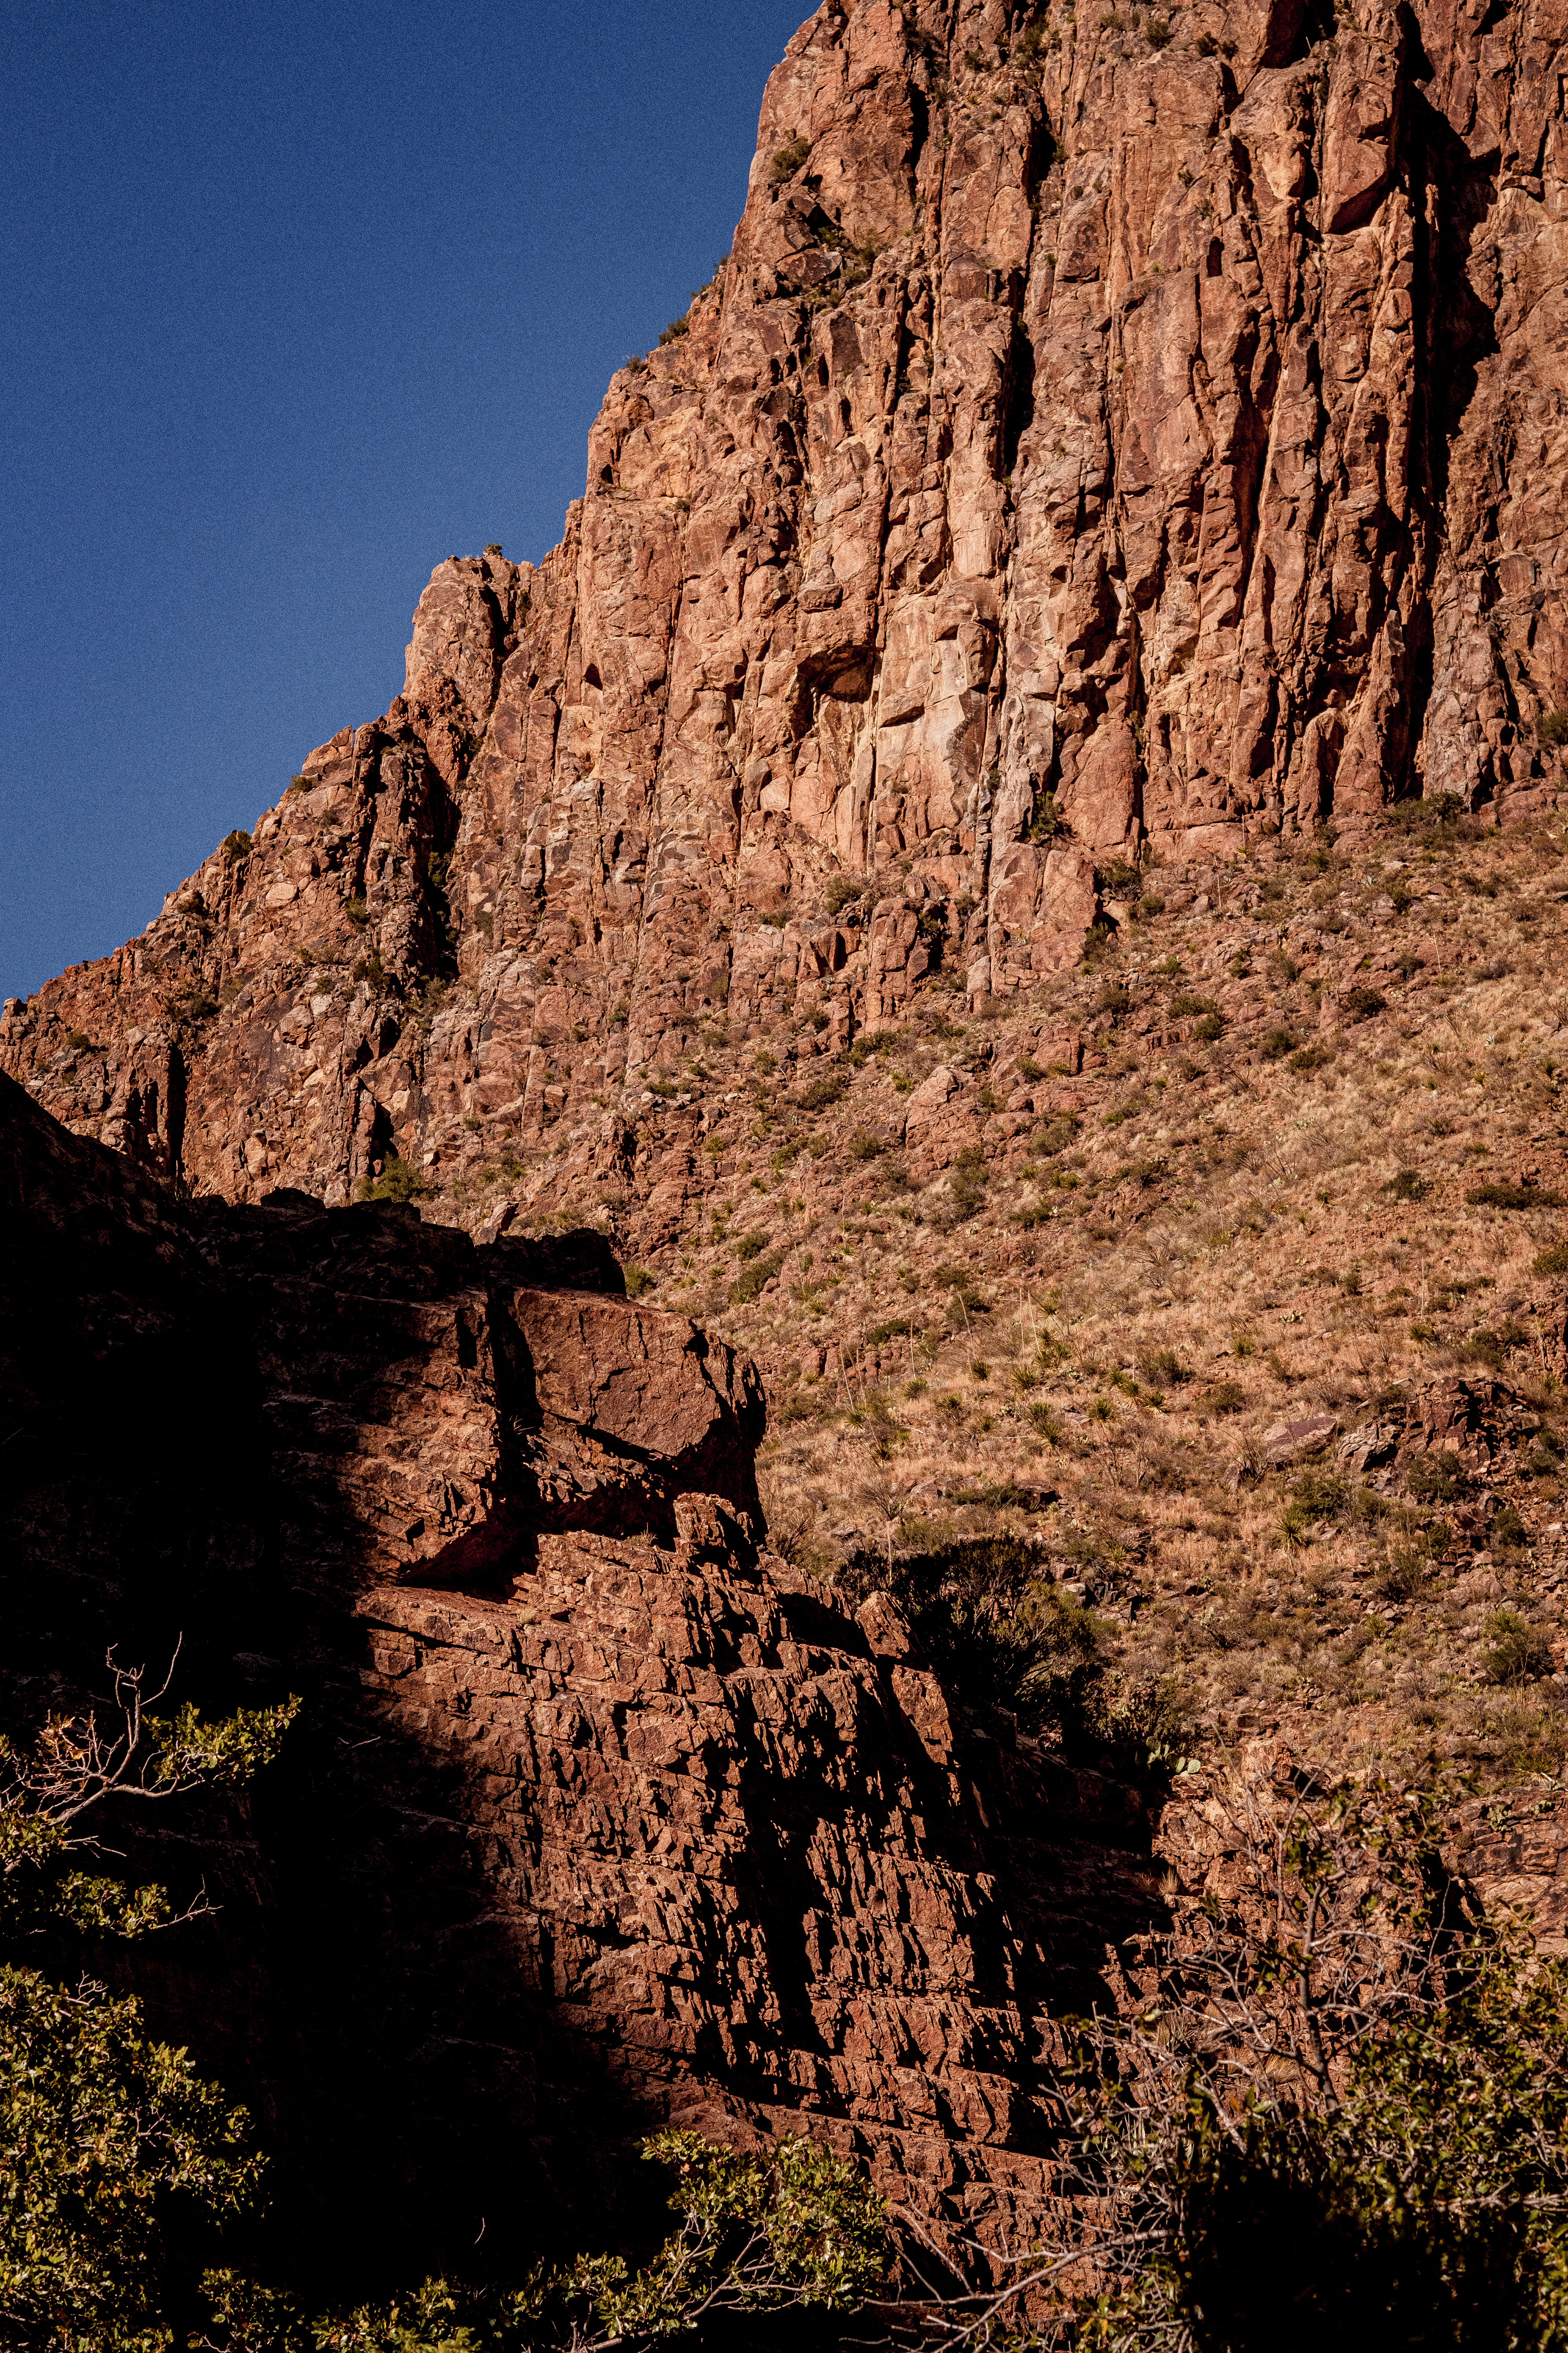
[[[430,1209],[592,1217],[750,1348],[776,1541],[823,1574],[1027,1534],[1197,1744],[1554,1774],[1563,842],[1418,802],[1124,875],[1077,974],[938,969],[846,1052],[830,995],[717,1016],[621,1181],[562,1122]]]

